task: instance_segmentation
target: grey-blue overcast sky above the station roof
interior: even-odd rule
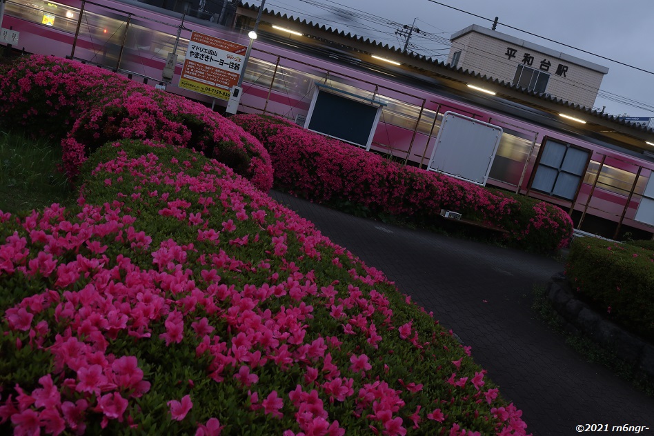
[[[498,17],[498,32],[607,67],[595,109],[654,117],[653,6],[652,0],[265,0],[264,7],[397,48],[406,39],[395,30],[414,26],[424,37],[414,34],[411,48],[440,61],[451,34],[472,24],[490,28]]]

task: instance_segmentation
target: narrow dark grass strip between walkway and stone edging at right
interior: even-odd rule
[[[565,340],[567,346],[579,353],[586,361],[608,368],[612,373],[628,381],[649,397],[654,397],[654,384],[642,379],[633,364],[621,359],[617,353],[601,348],[583,333],[575,334],[566,330],[561,315],[549,303],[544,286],[534,286],[533,297],[532,310]]]

